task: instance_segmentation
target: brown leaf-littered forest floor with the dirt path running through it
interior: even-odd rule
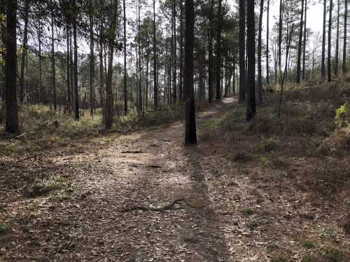
[[[258,110],[214,103],[190,147],[180,121],[2,150],[0,261],[350,261],[348,149]]]

